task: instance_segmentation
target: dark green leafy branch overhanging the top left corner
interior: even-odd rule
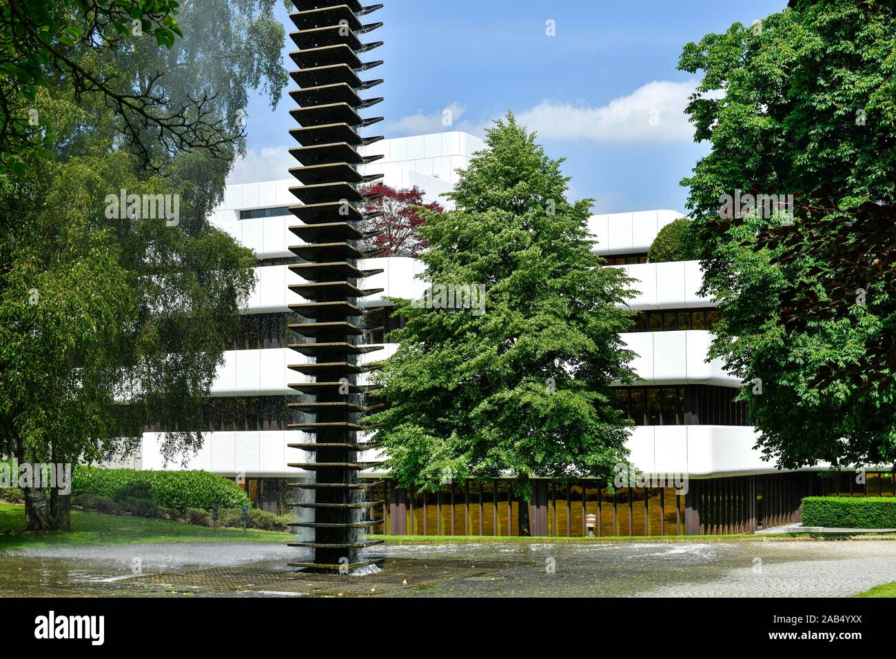
[[[160,97],[127,89],[126,79],[85,62],[85,50],[99,53],[131,39],[151,39],[170,47],[183,32],[177,24],[175,0],[9,0],[0,6],[0,172],[24,174],[28,153],[53,157],[49,149],[58,136],[48,117],[39,114],[39,91],[50,89],[54,74],[63,75],[74,90],[97,95],[125,117],[125,137],[141,143],[134,126],[152,126],[177,136],[192,147],[213,145],[215,133],[191,102],[175,112],[163,111]],[[197,120],[199,119],[199,120]]]

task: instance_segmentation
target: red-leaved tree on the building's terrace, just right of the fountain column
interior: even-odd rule
[[[432,202],[426,204],[423,201],[423,191],[417,186],[396,190],[394,187],[375,183],[363,186],[361,192],[370,195],[382,193],[383,196],[361,204],[364,212],[383,212],[365,222],[366,231],[383,231],[379,236],[370,238],[366,247],[370,249],[383,249],[379,256],[410,256],[416,258],[426,249],[426,240],[420,236],[418,227],[423,224],[424,218],[419,214],[419,208],[428,211],[443,212],[442,204]]]

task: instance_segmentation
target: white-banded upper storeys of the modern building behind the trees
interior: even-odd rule
[[[383,172],[383,183],[401,188],[418,186],[427,201],[448,192],[456,169],[470,162],[483,147],[476,137],[459,132],[383,140],[366,147],[366,155],[383,159],[366,167]],[[284,163],[284,172],[289,163]],[[365,172],[366,173],[366,172]],[[211,431],[188,468],[247,479],[295,478],[297,449],[287,444],[309,441],[298,430],[287,430],[283,396],[296,395],[288,383],[303,377],[290,370],[297,353],[285,328],[289,305],[304,301],[289,290],[300,282],[288,265],[297,258],[289,251],[299,239],[289,231],[297,223],[289,213],[296,204],[289,194],[292,178],[228,186],[211,221],[254,250],[259,264],[257,285],[247,299],[243,323],[212,387]],[[439,200],[445,204],[444,199]],[[754,450],[755,432],[745,403],[733,398],[742,383],[726,374],[718,361],[707,361],[711,326],[717,319],[710,299],[698,295],[702,273],[697,262],[646,263],[647,251],[659,230],[681,217],[675,211],[643,211],[595,215],[590,228],[595,251],[611,266],[622,267],[640,292],[629,300],[639,315],[636,330],[624,334],[638,355],[633,369],[636,386],[619,388],[620,404],[635,427],[629,439],[632,462],[643,473],[686,474],[691,479],[719,479],[774,473]],[[375,263],[373,263],[375,262]],[[364,268],[382,268],[365,281],[365,288],[383,292],[363,299],[379,306],[385,297],[417,298],[425,288],[415,275],[422,271],[409,258],[369,259]],[[380,360],[394,351],[372,353]],[[132,459],[138,469],[180,468],[163,464],[161,434],[148,429]],[[495,504],[496,505],[496,504]],[[495,508],[496,509],[496,508]],[[699,525],[699,522],[698,522]]]

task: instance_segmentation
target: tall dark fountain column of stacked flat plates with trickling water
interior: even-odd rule
[[[371,429],[363,416],[374,410],[366,406],[366,394],[375,386],[359,384],[360,374],[369,370],[359,364],[359,356],[382,348],[363,345],[364,310],[359,299],[383,290],[358,288],[365,277],[383,272],[358,268],[358,259],[376,254],[365,250],[367,238],[375,234],[365,232],[364,225],[379,214],[358,209],[358,203],[373,196],[360,193],[358,186],[382,176],[359,173],[359,165],[382,156],[363,157],[358,147],[383,139],[358,135],[361,127],[383,119],[358,115],[360,109],[383,100],[358,95],[383,82],[360,79],[359,74],[382,61],[362,63],[358,55],[382,41],[361,43],[358,35],[382,25],[363,24],[361,17],[383,5],[362,6],[358,0],[293,0],[293,4],[297,11],[290,18],[297,31],[289,37],[299,50],[289,54],[298,66],[290,75],[298,89],[289,95],[298,107],[290,114],[300,127],[289,131],[298,143],[289,152],[300,166],[289,173],[302,185],[290,188],[301,204],[289,210],[301,223],[289,229],[301,239],[290,250],[302,263],[289,267],[304,282],[289,288],[307,301],[290,305],[300,322],[289,328],[300,341],[289,347],[305,359],[289,368],[310,376],[310,381],[290,385],[302,394],[302,402],[289,406],[300,410],[307,421],[288,425],[307,433],[309,440],[288,446],[314,457],[314,462],[289,464],[312,473],[314,480],[289,486],[313,493],[307,498],[313,500],[291,505],[311,510],[312,521],[295,526],[311,529],[314,540],[290,546],[310,548],[314,560],[289,565],[345,573],[375,562],[362,561],[359,553],[382,542],[365,540],[366,528],[382,520],[366,520],[364,512],[380,502],[364,500],[365,488],[374,483],[358,478],[375,464],[361,460],[363,451],[375,448],[358,437]]]

